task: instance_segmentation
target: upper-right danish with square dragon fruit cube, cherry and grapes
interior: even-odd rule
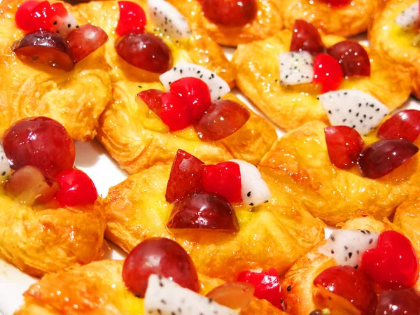
[[[395,109],[410,92],[409,78],[398,66],[356,41],[321,37],[303,20],[293,32],[239,45],[233,62],[241,92],[284,130],[311,120],[327,123],[325,98],[337,106],[369,102],[375,109]]]

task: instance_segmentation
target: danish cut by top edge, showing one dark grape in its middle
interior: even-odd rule
[[[272,36],[283,27],[273,0],[172,0],[176,8],[221,45],[236,46]]]

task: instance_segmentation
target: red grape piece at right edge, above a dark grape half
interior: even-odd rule
[[[379,127],[379,139],[406,139],[414,142],[420,134],[420,111],[405,109]]]

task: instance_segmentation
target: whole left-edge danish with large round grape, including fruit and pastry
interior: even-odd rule
[[[18,121],[0,146],[0,258],[33,276],[102,256],[105,218],[74,158],[69,134],[45,117]]]

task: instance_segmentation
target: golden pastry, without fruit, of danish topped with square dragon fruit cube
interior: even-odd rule
[[[238,71],[239,90],[286,131],[311,120],[328,123],[323,106],[316,99],[321,94],[319,85],[280,84],[279,54],[290,50],[291,36],[291,31],[283,30],[263,41],[239,45],[233,56]],[[322,36],[327,47],[344,39],[339,36]],[[392,62],[378,57],[369,48],[366,50],[370,57],[370,77],[344,78],[339,89],[362,90],[372,94],[389,109],[396,109],[409,97],[409,77]]]

